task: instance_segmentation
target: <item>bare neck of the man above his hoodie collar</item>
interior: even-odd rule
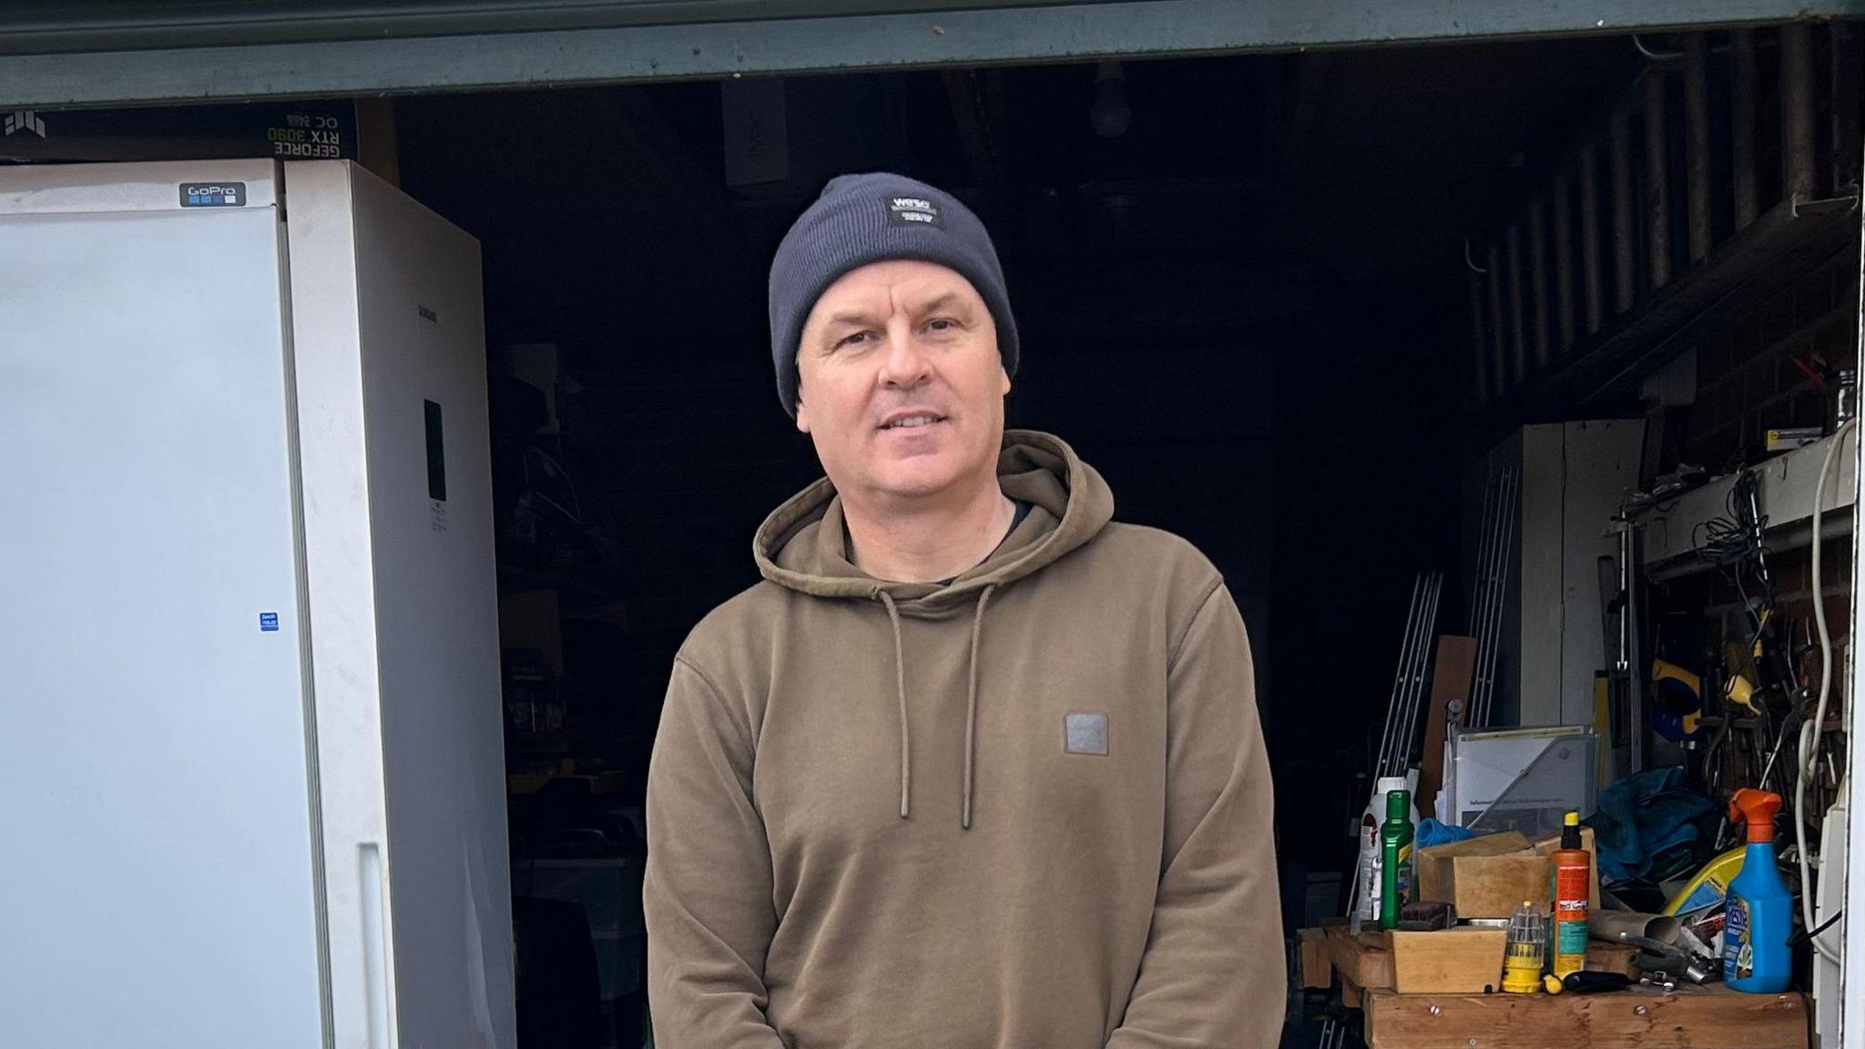
[[[871,506],[843,498],[854,566],[890,582],[938,582],[964,573],[1003,543],[1016,519],[998,478],[955,504]]]

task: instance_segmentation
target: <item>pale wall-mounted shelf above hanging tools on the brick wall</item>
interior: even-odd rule
[[[1830,536],[1844,534],[1852,528],[1848,510],[1858,502],[1858,429],[1844,435],[1844,448],[1833,463],[1833,472],[1826,480],[1826,500],[1822,508],[1822,530]],[[1837,437],[1822,437],[1803,448],[1775,455],[1766,463],[1749,467],[1757,474],[1755,497],[1761,511],[1768,519],[1764,536],[1770,551],[1789,551],[1803,547],[1813,539],[1813,491],[1820,480],[1820,465],[1826,450]],[[1686,491],[1665,510],[1649,511],[1641,523],[1645,526],[1645,567],[1652,577],[1669,579],[1706,569],[1708,562],[1695,558],[1695,539],[1705,521],[1729,517],[1729,489],[1734,487],[1736,474],[1721,476],[1710,483]]]

